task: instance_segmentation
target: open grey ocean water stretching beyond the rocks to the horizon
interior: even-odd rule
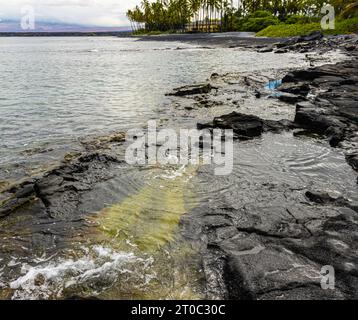
[[[33,174],[79,138],[156,118],[165,93],[211,73],[306,64],[294,54],[136,40],[0,39],[0,180]]]

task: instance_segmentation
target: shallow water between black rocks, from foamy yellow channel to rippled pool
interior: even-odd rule
[[[181,230],[181,218],[192,210],[244,208],[265,220],[267,213],[286,208],[298,216],[336,212],[307,202],[305,190],[358,201],[356,173],[327,143],[269,133],[235,142],[234,152],[229,176],[214,176],[212,166],[117,169],[113,179],[82,197],[87,227],[76,230],[67,248],[31,258],[12,252],[3,265],[6,277],[0,270],[0,292],[13,299],[206,298],[200,245],[188,241],[193,226],[187,226],[189,233]],[[11,224],[7,229],[16,230]],[[26,232],[20,229],[17,237],[26,238]]]

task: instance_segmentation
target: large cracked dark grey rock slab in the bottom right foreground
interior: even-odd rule
[[[313,209],[311,194],[293,193],[306,203],[304,211],[285,206],[282,199],[279,206],[268,201],[261,211],[247,205],[208,205],[186,217],[187,225],[197,221],[190,237],[205,239],[203,260],[211,298],[358,297],[357,213],[343,200],[323,196],[320,202],[322,196],[317,195],[312,200],[319,199],[322,207]],[[326,265],[335,269],[335,290],[321,288],[321,268]]]

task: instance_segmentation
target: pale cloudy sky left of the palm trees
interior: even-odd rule
[[[139,0],[0,0],[0,19],[20,20],[21,8],[30,5],[37,22],[128,26],[125,12],[138,3]]]

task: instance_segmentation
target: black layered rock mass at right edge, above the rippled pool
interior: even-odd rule
[[[352,147],[356,142],[350,142],[358,132],[358,59],[353,57],[335,65],[296,70],[286,75],[283,82],[284,90],[295,86],[311,88],[316,97],[311,102],[296,104],[295,123],[324,135],[332,147],[346,145],[347,161],[358,171],[355,157],[351,156],[358,153]]]

